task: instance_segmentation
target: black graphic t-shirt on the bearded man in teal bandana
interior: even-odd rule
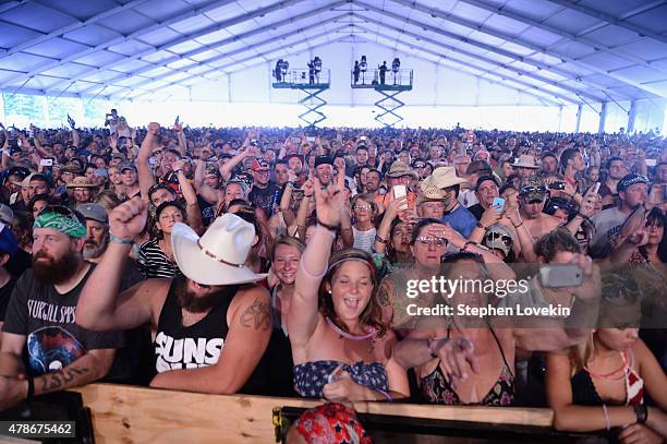
[[[57,372],[89,350],[122,347],[122,333],[88,332],[76,325],[76,302],[92,271],[93,266],[64,295],[37,283],[32,269],[16,283],[2,331],[26,336],[24,358],[31,375]]]

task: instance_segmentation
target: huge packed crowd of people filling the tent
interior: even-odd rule
[[[110,381],[325,399],[293,442],[368,442],[362,400],[667,439],[654,133],[0,130],[0,409]],[[409,295],[442,276],[529,284]]]

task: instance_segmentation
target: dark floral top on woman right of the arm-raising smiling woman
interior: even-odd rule
[[[492,389],[486,394],[484,399],[480,403],[482,406],[510,406],[514,403],[514,375],[510,370],[510,365],[507,363],[505,352],[500,346],[500,341],[496,336],[496,333],[490,328],[492,335],[498,345],[500,355],[502,356],[502,362],[505,365],[500,371],[498,381],[494,384]],[[447,337],[449,338],[450,328],[447,328]],[[463,405],[457,392],[451,387],[451,384],[442,369],[440,368],[440,360],[438,364],[428,375],[421,379],[421,391],[424,398],[429,404],[445,404],[449,406]]]

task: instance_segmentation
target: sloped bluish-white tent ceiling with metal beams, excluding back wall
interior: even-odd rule
[[[146,97],[363,36],[548,104],[667,97],[667,1],[23,0],[0,87]]]

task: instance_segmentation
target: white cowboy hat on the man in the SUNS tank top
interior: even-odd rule
[[[235,214],[218,217],[201,238],[185,224],[171,229],[173,257],[185,277],[202,285],[255,283],[266,274],[245,266],[255,227]]]

